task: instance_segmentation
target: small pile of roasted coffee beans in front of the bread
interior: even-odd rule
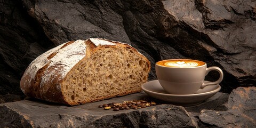
[[[125,110],[125,109],[139,109],[146,108],[149,106],[157,105],[156,102],[148,102],[146,100],[133,100],[133,101],[124,101],[123,103],[108,103],[104,105],[99,105],[99,108],[104,108],[105,110],[113,109],[114,111]]]

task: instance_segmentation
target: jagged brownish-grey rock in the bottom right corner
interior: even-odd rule
[[[229,95],[227,110],[202,110],[201,125],[213,127],[255,127],[256,87],[238,87]]]

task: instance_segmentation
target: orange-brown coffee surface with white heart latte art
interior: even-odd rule
[[[189,59],[172,59],[172,60],[162,60],[156,63],[157,65],[166,66],[166,67],[197,67],[205,65],[205,62],[198,60],[189,60]]]

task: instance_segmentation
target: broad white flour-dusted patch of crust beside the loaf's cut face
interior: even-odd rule
[[[86,44],[85,41],[82,40],[77,40],[63,47],[63,49],[59,49],[57,54],[50,59],[49,66],[44,72],[40,87],[47,82],[51,82],[54,78],[58,78],[58,81],[63,79],[70,69],[85,57],[85,54]]]

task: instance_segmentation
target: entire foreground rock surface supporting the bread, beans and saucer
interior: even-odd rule
[[[79,106],[35,99],[0,104],[0,127],[255,127],[256,87],[238,87],[196,106],[174,106],[144,92]],[[149,99],[156,106],[113,111],[99,105]]]

